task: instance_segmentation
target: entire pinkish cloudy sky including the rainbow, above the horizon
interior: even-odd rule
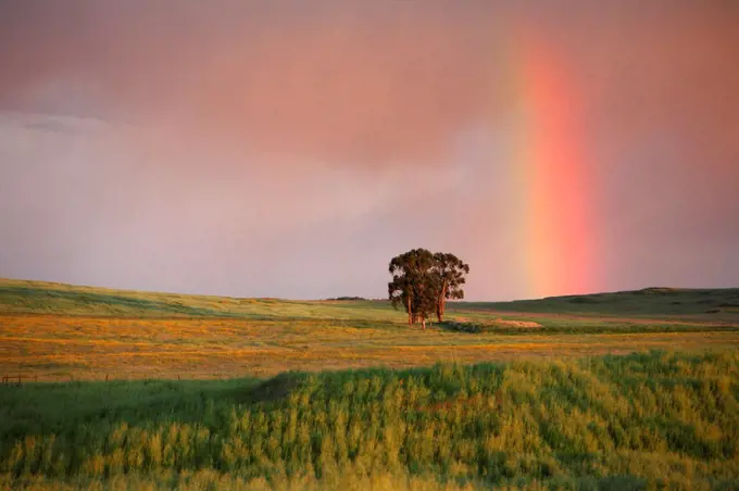
[[[0,0],[0,277],[739,287],[739,2]]]

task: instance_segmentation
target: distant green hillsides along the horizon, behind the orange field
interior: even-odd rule
[[[525,313],[588,317],[661,317],[739,322],[739,288],[673,289],[553,297],[514,302],[451,302],[449,316]],[[113,317],[341,318],[402,322],[385,301],[289,301],[112,290],[0,279],[0,313]]]

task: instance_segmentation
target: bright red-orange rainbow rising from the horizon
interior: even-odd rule
[[[592,292],[599,276],[594,182],[578,89],[552,48],[535,36],[519,41],[510,152],[516,189],[524,190],[514,211],[525,244],[524,289],[530,297]]]

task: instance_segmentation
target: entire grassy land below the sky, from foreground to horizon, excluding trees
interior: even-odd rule
[[[422,331],[383,301],[0,280],[0,488],[732,489],[738,304],[460,302]]]

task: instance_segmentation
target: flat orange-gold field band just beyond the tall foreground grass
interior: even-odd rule
[[[223,378],[439,361],[739,347],[739,332],[469,335],[403,324],[7,316],[0,374],[39,379]]]

